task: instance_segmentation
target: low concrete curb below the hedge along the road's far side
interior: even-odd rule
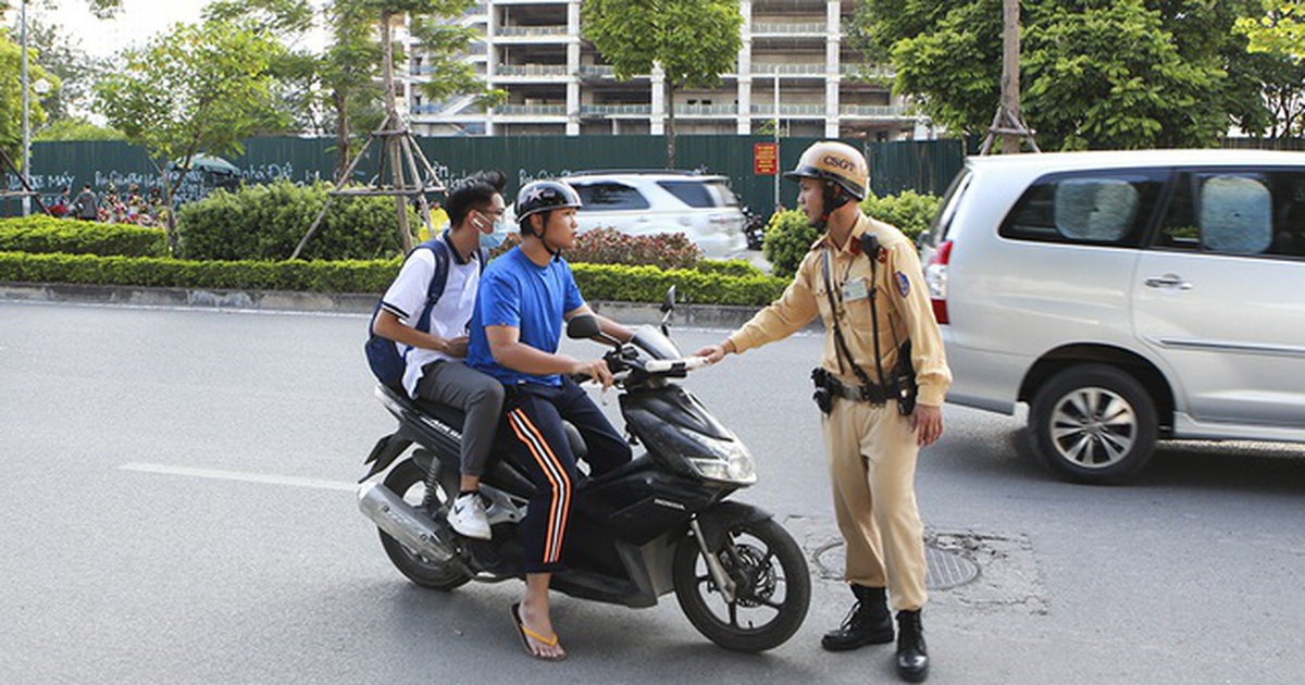
[[[0,301],[80,303],[123,307],[211,308],[269,312],[371,314],[378,294],[322,294],[142,286],[86,286],[80,283],[0,282]],[[622,324],[659,324],[659,304],[592,301],[592,309]],[[675,324],[685,327],[736,329],[760,307],[677,304]]]

